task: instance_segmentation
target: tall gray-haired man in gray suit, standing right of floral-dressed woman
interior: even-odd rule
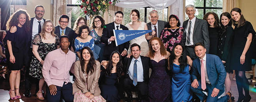
[[[185,45],[186,53],[192,60],[196,57],[194,52],[194,45],[201,42],[205,45],[206,53],[209,53],[210,40],[207,22],[195,17],[195,6],[187,5],[185,7],[188,20],[183,22],[183,38],[182,42]]]

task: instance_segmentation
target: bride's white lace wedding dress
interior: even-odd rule
[[[140,27],[138,27],[137,30],[144,30],[145,26],[146,26],[146,23],[141,22]],[[130,24],[126,24],[125,27],[127,27],[129,30],[133,30],[133,28],[130,26]],[[134,43],[140,45],[140,50],[141,50],[140,55],[145,56],[148,53],[149,47],[148,47],[148,42],[147,42],[147,39],[146,39],[145,35],[142,35],[142,36],[139,36],[139,37],[137,37],[133,40],[130,40],[130,47]],[[131,49],[130,47],[129,47],[129,49]],[[131,51],[128,51],[127,53],[129,54],[129,53],[131,53]]]

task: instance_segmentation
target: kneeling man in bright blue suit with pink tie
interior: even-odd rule
[[[191,89],[202,102],[231,102],[231,93],[218,98],[224,93],[224,82],[226,71],[220,58],[216,55],[205,54],[203,43],[195,44],[195,54],[198,56],[193,60]],[[208,97],[203,93],[208,92]]]

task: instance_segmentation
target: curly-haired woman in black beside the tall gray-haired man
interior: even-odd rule
[[[216,13],[206,13],[203,19],[207,21],[210,39],[209,54],[217,55],[218,49],[218,31],[220,28],[220,19]]]

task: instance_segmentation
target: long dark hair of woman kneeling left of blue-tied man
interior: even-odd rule
[[[122,63],[122,60],[121,60],[121,55],[118,51],[113,51],[110,55],[110,58],[109,58],[109,62],[106,66],[106,71],[104,72],[104,75],[108,75],[108,76],[111,76],[111,71],[113,69],[113,62],[112,62],[112,56],[117,53],[119,55],[119,62],[116,64],[116,72],[118,73],[118,77],[121,77],[121,73],[123,71],[123,63]]]

